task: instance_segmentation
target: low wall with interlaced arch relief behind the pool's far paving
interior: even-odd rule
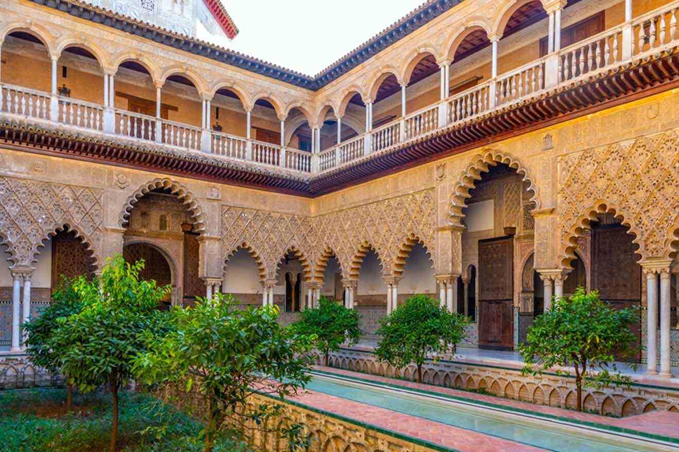
[[[332,353],[329,365],[385,377],[416,379],[414,366],[394,369],[380,363],[371,352],[361,350],[343,348]],[[552,407],[575,409],[576,404],[574,379],[555,374],[521,375],[520,368],[428,361],[422,369],[422,382],[463,390],[484,390],[496,396]],[[584,392],[584,407],[590,412],[630,416],[655,409],[679,411],[679,389],[634,384],[631,388],[605,387]]]

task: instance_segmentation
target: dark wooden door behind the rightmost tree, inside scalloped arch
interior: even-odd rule
[[[599,291],[602,300],[616,309],[640,308],[641,306],[641,266],[637,263],[639,255],[627,228],[621,224],[607,224],[592,228],[591,278],[592,289]],[[638,321],[629,325],[641,344],[641,312]],[[617,356],[630,361],[629,356]],[[641,362],[641,350],[631,361]]]

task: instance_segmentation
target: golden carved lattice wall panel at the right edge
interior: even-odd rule
[[[601,211],[623,218],[642,259],[669,253],[666,239],[679,211],[678,140],[659,133],[559,159],[559,261],[574,256],[576,228]]]

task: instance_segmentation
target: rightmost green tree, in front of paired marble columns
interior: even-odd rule
[[[572,377],[574,371],[577,409],[583,411],[583,386],[631,384],[630,377],[618,371],[614,355],[636,352],[629,325],[638,316],[636,310],[611,308],[598,291],[586,293],[579,287],[571,297],[555,299],[551,310],[528,329],[526,343],[519,346],[526,364],[522,372],[538,375],[552,369]]]

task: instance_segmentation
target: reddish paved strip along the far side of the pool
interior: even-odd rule
[[[381,382],[402,386],[405,388],[413,388],[429,392],[437,392],[439,394],[447,394],[450,396],[458,396],[471,400],[478,400],[480,402],[494,403],[496,405],[504,405],[505,407],[533,411],[534,413],[566,417],[568,419],[574,419],[582,422],[593,422],[595,424],[605,424],[608,426],[627,428],[648,434],[658,434],[662,436],[679,438],[679,413],[674,411],[651,411],[642,415],[630,416],[621,419],[616,417],[595,415],[591,413],[579,413],[577,411],[549,407],[547,405],[535,405],[534,403],[526,403],[519,400],[511,400],[509,398],[501,398],[485,394],[476,394],[474,392],[456,390],[452,388],[442,388],[440,386],[418,384],[416,382],[380,377],[378,375],[369,375],[366,373],[347,371],[344,369],[335,369],[334,367],[316,366],[316,369],[328,373],[334,373],[336,375],[346,375],[348,377],[367,379],[373,382]],[[447,426],[446,428],[450,427]]]

